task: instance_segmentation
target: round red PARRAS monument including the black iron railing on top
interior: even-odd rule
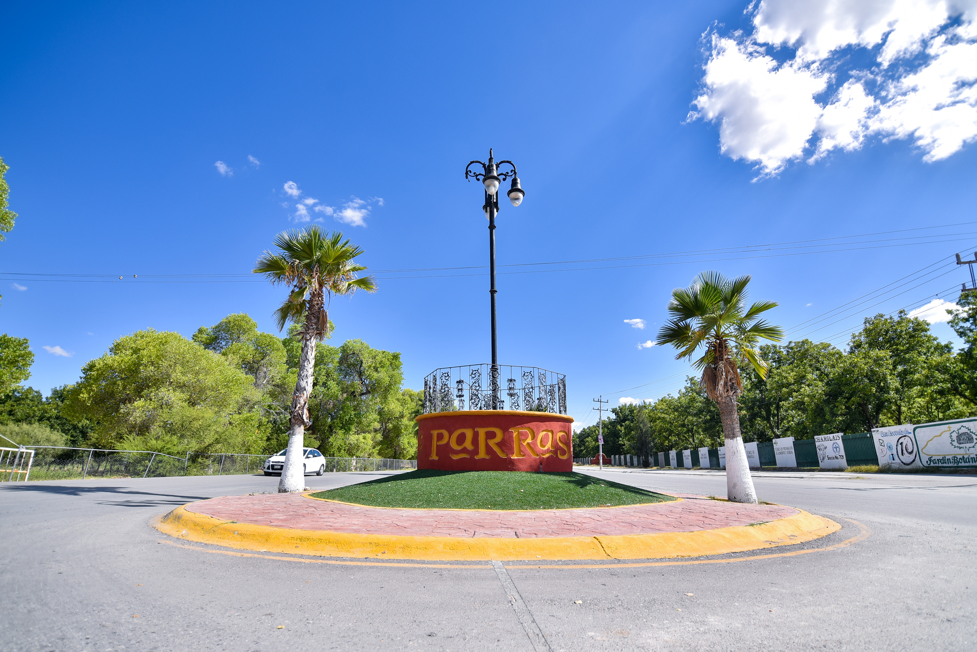
[[[424,379],[417,468],[573,470],[573,418],[566,412],[563,374],[509,365],[438,369]]]

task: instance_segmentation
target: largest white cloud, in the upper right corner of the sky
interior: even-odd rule
[[[719,123],[720,150],[761,176],[873,135],[912,140],[926,162],[977,140],[977,1],[762,0],[747,12],[751,34],[710,34],[690,119]]]

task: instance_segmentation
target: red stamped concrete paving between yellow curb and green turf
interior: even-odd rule
[[[296,530],[408,537],[597,537],[694,532],[772,521],[798,513],[775,505],[741,505],[680,494],[686,500],[600,509],[495,511],[384,509],[306,498],[301,494],[226,496],[187,506],[221,520]]]

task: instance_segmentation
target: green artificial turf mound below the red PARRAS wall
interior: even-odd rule
[[[675,500],[583,473],[413,470],[313,494],[343,503],[415,509],[573,509]]]

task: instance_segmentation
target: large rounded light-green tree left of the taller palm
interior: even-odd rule
[[[179,333],[149,329],[119,338],[65,393],[65,416],[88,421],[92,441],[104,448],[123,441],[161,452],[261,447],[251,377]]]

